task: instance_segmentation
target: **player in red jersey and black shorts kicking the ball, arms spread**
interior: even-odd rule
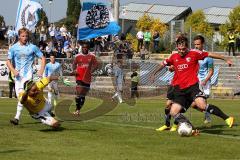
[[[174,117],[176,123],[188,122],[191,124],[182,112],[187,111],[191,103],[195,102],[198,109],[222,118],[231,128],[233,126],[234,118],[227,116],[217,106],[206,103],[205,94],[200,89],[201,87],[199,85],[197,74],[199,69],[198,61],[203,60],[206,57],[222,59],[229,65],[232,64],[232,61],[222,55],[199,50],[189,50],[188,39],[184,36],[177,39],[177,49],[178,53],[172,54],[168,59],[165,59],[150,76],[151,81],[154,81],[156,73],[161,71],[165,66],[174,66],[174,96],[170,108],[170,115]]]

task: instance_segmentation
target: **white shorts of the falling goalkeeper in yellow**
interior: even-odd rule
[[[32,118],[40,120],[43,124],[52,126],[56,120],[49,114],[51,112],[51,104],[46,100],[44,108],[35,114],[32,114]]]

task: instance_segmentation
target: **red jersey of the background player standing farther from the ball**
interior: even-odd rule
[[[77,66],[76,80],[90,84],[92,78],[91,70],[98,65],[95,55],[91,53],[86,55],[78,54],[73,63],[75,66]]]

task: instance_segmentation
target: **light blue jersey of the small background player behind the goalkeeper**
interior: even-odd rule
[[[45,67],[45,76],[62,76],[62,67],[58,62],[49,62]]]

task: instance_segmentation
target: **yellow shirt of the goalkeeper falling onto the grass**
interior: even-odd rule
[[[42,78],[36,82],[37,89],[40,91],[36,97],[27,97],[27,100],[23,102],[23,106],[27,108],[30,114],[35,114],[40,112],[45,107],[45,97],[43,96],[43,88],[45,88],[49,83],[47,77]],[[19,99],[21,101],[24,92],[19,94]]]

